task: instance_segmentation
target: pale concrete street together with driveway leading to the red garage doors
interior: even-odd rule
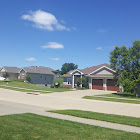
[[[99,95],[107,93],[110,92],[98,90],[79,90],[62,93],[30,95],[19,91],[0,89],[0,100],[10,101],[14,103],[22,103],[25,105],[34,105],[41,107],[45,110],[79,109],[109,114],[140,117],[139,104],[97,101],[81,98],[86,95]],[[0,108],[2,107],[0,106]]]

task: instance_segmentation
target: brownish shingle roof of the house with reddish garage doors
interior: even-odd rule
[[[101,68],[101,67],[103,67],[103,66],[105,66],[105,67],[108,67],[109,69],[112,69],[111,67],[110,67],[110,65],[109,64],[101,64],[101,65],[97,65],[97,66],[92,66],[92,67],[89,67],[89,68],[85,68],[85,69],[81,69],[81,70],[79,70],[80,72],[82,72],[82,73],[84,73],[85,75],[88,75],[88,74],[90,74],[90,73],[92,73],[93,71],[96,71],[96,70],[98,70],[99,68]],[[112,69],[113,70],[113,69]],[[72,70],[72,71],[74,71],[74,70]],[[71,77],[72,76],[72,74],[70,74],[72,71],[70,71],[70,72],[68,72],[67,74],[65,74],[65,75],[63,75],[63,77]],[[101,76],[101,75],[100,75]]]

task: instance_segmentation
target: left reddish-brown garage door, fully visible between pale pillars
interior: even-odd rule
[[[92,89],[103,90],[103,79],[93,79]]]

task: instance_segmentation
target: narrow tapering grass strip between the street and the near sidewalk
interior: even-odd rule
[[[104,114],[82,110],[54,110],[49,112],[140,127],[140,118],[135,117]]]

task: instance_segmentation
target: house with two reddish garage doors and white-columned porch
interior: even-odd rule
[[[89,89],[122,91],[122,87],[116,86],[116,82],[113,79],[114,72],[115,70],[108,64],[72,70],[63,75],[63,86],[75,88],[77,87],[77,78],[85,76],[88,78]]]

